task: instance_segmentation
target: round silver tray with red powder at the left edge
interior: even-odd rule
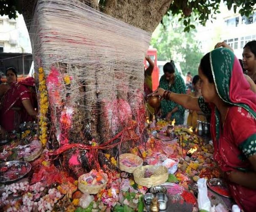
[[[16,182],[16,181],[19,181],[20,179],[24,178],[27,176],[27,174],[30,172],[31,170],[31,164],[28,163],[28,162],[25,162],[25,161],[7,161],[7,162],[4,162],[4,163],[1,163],[0,164],[0,168],[4,167],[4,166],[12,166],[14,164],[17,164],[17,166],[23,166],[25,165],[26,167],[26,173],[24,175],[19,175],[17,176],[16,179],[13,179],[13,180],[7,180],[5,179],[3,176],[2,176],[2,173],[0,172],[0,183],[13,183],[13,182]]]

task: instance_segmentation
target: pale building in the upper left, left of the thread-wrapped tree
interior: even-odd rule
[[[16,19],[0,16],[0,52],[32,53],[23,16],[17,16]]]

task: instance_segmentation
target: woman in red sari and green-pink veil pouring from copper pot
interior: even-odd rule
[[[244,211],[256,211],[256,95],[234,53],[218,48],[200,63],[202,97],[156,95],[190,110],[211,112],[214,159],[226,173],[232,197]]]

